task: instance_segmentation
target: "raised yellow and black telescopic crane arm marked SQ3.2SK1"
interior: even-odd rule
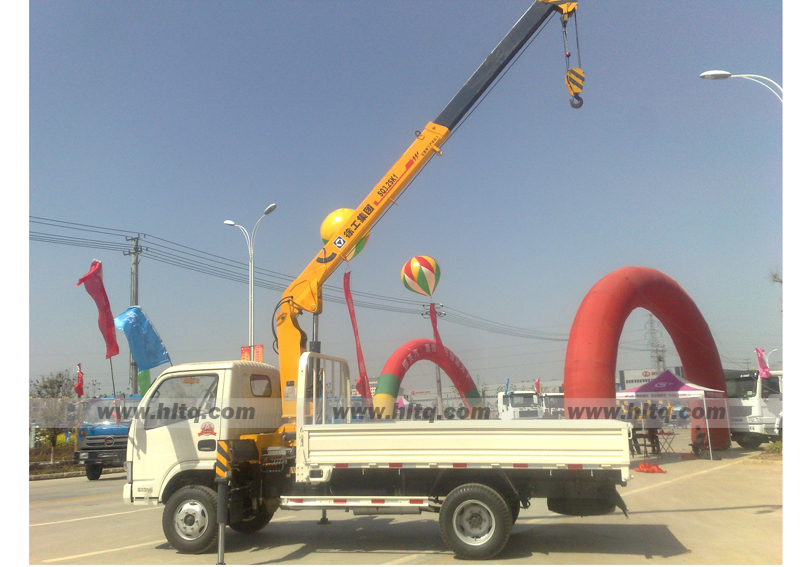
[[[281,391],[286,395],[287,382],[297,380],[300,356],[306,351],[307,337],[297,320],[304,311],[322,312],[322,284],[336,270],[356,244],[369,234],[373,224],[394,203],[394,199],[420,171],[439,153],[450,132],[461,122],[505,67],[514,59],[533,34],[545,23],[553,10],[565,15],[575,11],[575,2],[538,0],[514,24],[434,122],[417,135],[411,146],[392,166],[366,199],[322,248],[305,270],[292,282],[281,298],[276,317]],[[288,391],[292,391],[290,388]],[[302,392],[297,392],[302,395]],[[293,421],[296,405],[284,397],[283,417]]]

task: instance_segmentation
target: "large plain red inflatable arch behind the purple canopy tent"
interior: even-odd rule
[[[613,403],[619,338],[625,320],[638,307],[650,311],[667,330],[688,381],[725,391],[717,346],[694,301],[661,272],[627,267],[597,282],[575,315],[564,367],[567,408],[585,406],[588,400]],[[730,446],[726,429],[712,429],[710,438],[715,448]]]

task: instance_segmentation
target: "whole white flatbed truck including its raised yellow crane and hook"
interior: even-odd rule
[[[320,354],[318,340],[323,283],[422,167],[441,155],[451,132],[536,31],[557,15],[566,33],[576,9],[567,0],[534,2],[286,288],[274,319],[280,373],[255,362],[184,364],[148,390],[129,433],[124,498],[164,504],[162,525],[174,547],[202,552],[219,538],[222,563],[225,524],[255,532],[278,509],[427,511],[439,514],[450,549],[488,559],[502,551],[531,498],[547,498],[562,514],[625,511],[616,486],[630,478],[627,424],[430,423],[409,419],[412,412],[392,419],[399,379],[390,375],[379,378],[370,408],[388,409],[383,417],[389,419],[348,423],[348,366]],[[583,71],[568,69],[566,83],[570,104],[580,107]],[[300,326],[303,313],[313,316],[310,340]],[[483,404],[469,391],[464,399]]]

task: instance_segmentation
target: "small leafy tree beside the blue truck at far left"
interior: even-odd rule
[[[30,418],[39,427],[37,437],[50,446],[50,462],[54,460],[58,436],[74,421],[71,414],[77,416],[74,386],[69,370],[51,372],[30,382]]]

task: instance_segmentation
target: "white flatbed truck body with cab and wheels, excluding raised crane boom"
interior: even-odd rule
[[[303,355],[291,387],[281,392],[278,371],[258,362],[167,369],[131,425],[125,501],[164,504],[165,536],[193,553],[217,541],[220,472],[231,485],[225,521],[238,532],[264,528],[278,509],[433,512],[446,545],[465,558],[502,551],[532,498],[561,514],[627,514],[616,487],[630,479],[628,424],[348,423],[347,363],[315,353]],[[296,404],[294,435],[280,432],[282,401]]]

